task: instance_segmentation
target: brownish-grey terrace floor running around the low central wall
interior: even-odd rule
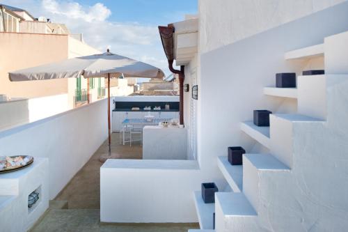
[[[138,143],[123,146],[119,143],[119,134],[111,137],[111,150],[118,153],[120,159],[141,159],[142,147]],[[70,183],[58,194],[55,201],[31,229],[31,232],[79,232],[79,231],[115,231],[142,232],[164,231],[181,232],[199,229],[193,224],[106,224],[100,223],[100,155],[105,153],[107,140],[95,151],[85,166],[70,180]]]

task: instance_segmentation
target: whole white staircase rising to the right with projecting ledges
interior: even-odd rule
[[[324,41],[285,59],[324,56],[326,75],[299,76],[297,88],[264,88],[296,98],[298,114],[274,112],[269,127],[240,125],[269,153],[244,154],[243,166],[217,158],[233,192],[215,194],[215,231],[347,231],[348,32]]]

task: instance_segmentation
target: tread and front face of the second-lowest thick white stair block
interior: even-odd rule
[[[272,179],[269,176],[262,176],[262,172],[286,171],[290,168],[276,157],[270,154],[245,154],[243,156],[243,192],[255,210],[258,210],[260,190],[267,191],[272,187]],[[263,179],[264,178],[264,179]],[[274,174],[274,178],[278,178]],[[269,181],[269,186],[264,186],[263,181]],[[261,189],[260,189],[260,185]]]

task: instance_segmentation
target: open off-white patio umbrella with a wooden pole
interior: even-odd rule
[[[37,81],[71,77],[105,77],[108,79],[108,128],[109,154],[102,156],[104,161],[111,157],[111,123],[110,123],[110,78],[112,77],[148,77],[163,78],[164,72],[147,63],[112,54],[107,49],[103,54],[81,56],[61,62],[49,63],[33,68],[9,72],[11,82]]]

